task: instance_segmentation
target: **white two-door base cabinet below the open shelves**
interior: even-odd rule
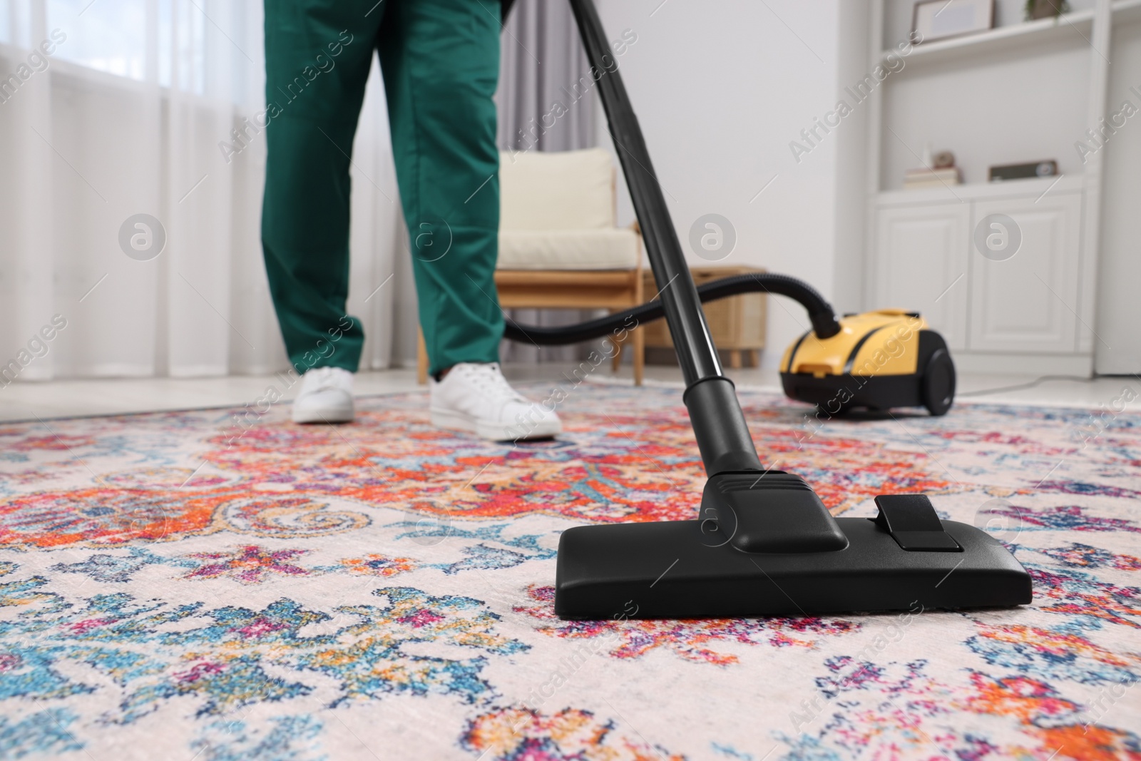
[[[1091,353],[1079,346],[1081,183],[881,193],[868,307],[920,311],[964,370],[1089,372]],[[994,250],[987,236],[1000,248],[1004,236],[1018,240],[1018,248]]]

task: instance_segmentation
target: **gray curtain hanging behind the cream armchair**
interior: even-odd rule
[[[574,99],[572,88],[590,78],[590,65],[578,41],[578,27],[566,0],[517,0],[501,40],[499,145],[504,151],[574,151],[594,143],[596,98]],[[566,113],[549,128],[543,116],[556,103]],[[563,108],[555,111],[558,113]],[[551,119],[545,120],[551,124]],[[578,309],[509,309],[508,315],[532,325],[566,325],[594,313]],[[543,347],[503,342],[505,362],[578,359],[585,346]]]

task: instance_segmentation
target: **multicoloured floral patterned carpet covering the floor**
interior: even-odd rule
[[[559,532],[694,517],[704,478],[678,390],[564,390],[566,434],[519,446],[422,395],[0,426],[0,758],[1141,759],[1136,415],[743,392],[834,512],[926,491],[1034,604],[569,623]]]

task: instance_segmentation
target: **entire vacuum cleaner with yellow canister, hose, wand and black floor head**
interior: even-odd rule
[[[569,1],[610,133],[622,146],[618,159],[661,294],[659,305],[638,307],[645,309],[639,314],[648,319],[659,309],[670,326],[709,480],[696,520],[563,532],[555,612],[565,618],[693,618],[1029,602],[1030,577],[1018,560],[973,526],[940,520],[926,496],[876,497],[874,520],[833,518],[800,477],[764,470],[613,66],[610,38],[592,0]],[[720,296],[758,290],[746,282],[752,280],[800,301],[812,321],[812,331],[785,356],[790,396],[825,405],[836,398],[841,406],[922,403],[932,414],[950,406],[954,365],[919,315],[879,311],[837,322],[812,288],[769,274],[718,285]],[[573,326],[570,333],[582,340],[598,327]],[[531,329],[516,329],[534,342]]]

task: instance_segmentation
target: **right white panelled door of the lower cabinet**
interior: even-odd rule
[[[992,214],[1004,214],[1014,228],[993,234],[1019,235],[1021,244],[1010,258],[1004,258],[1006,252],[992,259],[972,251],[970,348],[1075,351],[1082,196],[1047,194],[1039,200],[1003,199],[973,205],[972,235],[980,225],[987,228],[984,233],[990,229],[986,222],[995,219]]]

